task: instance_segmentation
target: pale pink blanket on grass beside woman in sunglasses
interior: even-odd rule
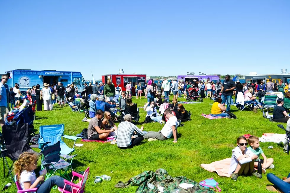
[[[218,173],[219,176],[231,177],[231,175],[228,174],[228,171],[230,170],[230,165],[231,158],[226,158],[224,160],[215,161],[210,164],[203,163],[200,166],[209,172],[215,171],[216,173]]]

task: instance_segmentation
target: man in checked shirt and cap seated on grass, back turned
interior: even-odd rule
[[[127,149],[132,148],[135,145],[138,145],[141,143],[141,141],[144,139],[144,133],[143,133],[143,126],[141,126],[141,129],[139,129],[136,125],[132,123],[132,117],[130,114],[127,114],[124,116],[124,122],[121,122],[118,126],[118,132],[117,132],[117,146],[120,149]],[[133,138],[132,136],[134,133],[138,135],[138,137]]]

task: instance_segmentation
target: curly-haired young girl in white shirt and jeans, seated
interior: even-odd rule
[[[60,176],[51,176],[44,181],[43,176],[36,178],[34,170],[37,168],[38,155],[34,153],[22,153],[14,163],[14,173],[23,190],[38,188],[37,193],[49,193],[55,185],[62,188],[65,186],[64,179]],[[65,186],[65,190],[71,192],[71,186]]]

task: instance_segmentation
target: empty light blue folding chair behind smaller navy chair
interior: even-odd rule
[[[76,141],[81,137],[64,135],[65,125],[44,125],[39,127],[40,138],[38,140],[39,144],[43,144],[44,146],[50,146],[56,144],[58,141],[60,142],[60,153],[64,155],[70,155],[75,150],[75,142],[73,147],[68,147],[65,142],[63,142],[62,138],[70,139]],[[46,143],[50,142],[50,143]],[[46,144],[45,144],[46,143]],[[41,148],[40,148],[41,149]]]

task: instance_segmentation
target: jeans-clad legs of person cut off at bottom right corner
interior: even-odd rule
[[[268,173],[267,179],[272,184],[274,184],[274,186],[268,185],[266,187],[267,190],[272,192],[290,192],[290,173],[288,174],[287,178],[283,177],[282,180],[275,176],[273,173]]]

